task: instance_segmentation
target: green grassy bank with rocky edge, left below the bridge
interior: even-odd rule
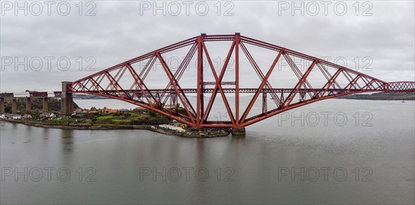
[[[12,123],[38,126],[42,128],[62,128],[76,130],[121,130],[140,129],[151,130],[164,135],[178,135],[181,137],[224,137],[230,134],[229,130],[190,131],[184,133],[162,128],[160,124],[170,124],[172,121],[152,110],[133,110],[123,113],[84,113],[71,117],[38,117],[32,119],[4,119]]]

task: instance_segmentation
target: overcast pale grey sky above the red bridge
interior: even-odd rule
[[[353,69],[358,58],[360,71],[371,61],[368,75],[415,81],[414,1],[16,2],[1,1],[0,92],[59,90],[96,72],[89,64],[103,70],[201,32],[241,32]]]

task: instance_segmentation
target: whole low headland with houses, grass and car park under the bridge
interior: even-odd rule
[[[223,137],[230,134],[225,129],[194,129],[145,108],[77,108],[71,116],[61,117],[59,112],[33,110],[26,113],[0,113],[1,121],[42,126],[46,128],[116,130],[145,129],[165,135],[182,137]]]

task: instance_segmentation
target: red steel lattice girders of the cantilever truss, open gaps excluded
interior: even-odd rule
[[[210,58],[208,48],[205,46],[205,42],[208,41],[231,41],[232,45],[229,48],[228,55],[225,58],[223,68],[220,72],[216,72],[214,64]],[[273,64],[270,66],[267,72],[262,72],[257,65],[257,62],[252,57],[246,44],[251,46],[259,46],[268,50],[274,50],[277,52]],[[162,55],[176,50],[190,46],[190,50],[187,55],[178,66],[177,70],[172,70],[166,64]],[[240,52],[242,50],[242,53]],[[179,84],[179,80],[185,71],[185,68],[189,65],[190,60],[196,54],[197,61],[197,86],[196,88],[182,88]],[[229,64],[230,58],[234,54],[235,58],[235,69],[228,72],[234,72],[234,81],[222,81],[225,70]],[[261,84],[258,88],[241,88],[239,82],[239,56],[245,55],[250,62],[252,68],[257,73]],[[311,65],[303,73],[296,64],[293,62],[291,57],[297,57],[307,61],[311,61]],[[208,66],[211,68],[214,80],[213,82],[203,81],[203,58],[208,59]],[[293,88],[273,88],[268,80],[271,73],[275,69],[276,64],[282,58],[285,58],[291,70],[297,77],[297,82]],[[165,89],[151,89],[146,85],[146,77],[151,70],[154,62],[158,60],[163,66],[165,75],[169,81],[165,82],[167,86]],[[145,67],[138,73],[132,64],[138,61],[147,61]],[[207,67],[207,66],[206,66]],[[329,72],[328,68],[334,68],[335,72]],[[324,86],[320,88],[313,88],[308,82],[307,77],[310,75],[312,70],[320,70],[325,80]],[[304,70],[303,70],[304,71]],[[110,73],[111,72],[111,73]],[[116,73],[114,75],[114,72]],[[123,75],[129,75],[133,79],[133,83],[129,88],[120,86],[119,82]],[[347,86],[340,86],[338,81],[339,76],[344,76],[349,82]],[[103,83],[103,79],[107,83]],[[214,88],[205,88],[205,85],[214,86]],[[223,85],[232,85],[234,88],[223,88]],[[187,124],[196,128],[243,128],[254,124],[257,121],[261,121],[278,113],[282,113],[286,110],[304,106],[306,104],[320,101],[322,99],[329,99],[333,97],[339,97],[342,95],[349,95],[359,92],[415,92],[415,82],[402,81],[402,82],[391,82],[387,83],[375,77],[365,75],[344,68],[337,64],[333,64],[329,61],[324,61],[309,55],[304,55],[294,50],[275,46],[270,43],[244,37],[239,34],[235,35],[200,35],[174,43],[170,46],[154,50],[140,57],[136,57],[129,61],[125,61],[121,64],[107,68],[100,72],[96,72],[93,75],[84,77],[72,84],[68,85],[68,92],[87,93],[93,95],[102,95],[105,97],[111,97],[113,99],[120,99],[127,101],[131,104],[136,104],[143,108],[154,110],[157,113],[180,121],[183,124]],[[190,103],[187,93],[196,93],[196,108]],[[207,105],[203,102],[203,94],[212,93]],[[234,108],[231,108],[228,103],[228,97],[225,93],[234,93]],[[239,111],[239,93],[253,93],[253,97],[246,109],[240,113]],[[208,117],[212,108],[212,104],[216,99],[216,95],[221,95],[225,108],[230,116],[229,121],[209,121]],[[262,113],[248,117],[252,106],[259,95],[262,96]],[[270,95],[270,99],[275,102],[276,108],[268,110],[267,106],[267,95]],[[295,101],[295,96],[299,96],[299,101]],[[167,101],[170,104],[176,105],[180,103],[185,109],[185,112],[178,113],[176,109],[169,108],[166,106]]]

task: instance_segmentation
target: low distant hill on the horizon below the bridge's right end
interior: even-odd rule
[[[415,92],[376,92],[372,94],[343,95],[338,99],[415,100]]]

